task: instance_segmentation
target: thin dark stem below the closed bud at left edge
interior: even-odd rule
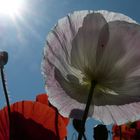
[[[4,90],[4,95],[6,99],[6,104],[7,104],[7,109],[8,109],[8,117],[9,117],[9,140],[11,140],[11,110],[10,110],[10,102],[8,98],[8,92],[6,89],[6,84],[5,84],[5,78],[4,78],[4,72],[3,72],[3,67],[0,68],[1,71],[1,80],[2,80],[2,85],[3,85],[3,90]]]

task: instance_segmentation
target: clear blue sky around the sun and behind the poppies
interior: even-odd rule
[[[75,10],[109,10],[120,12],[140,22],[139,0],[22,0],[24,8],[15,20],[0,15],[0,50],[9,53],[5,67],[10,102],[34,99],[44,93],[41,75],[42,52],[48,32],[58,19]],[[0,86],[0,107],[5,100]],[[88,120],[87,139],[92,139],[92,128],[97,124]],[[69,125],[69,140],[74,130]]]

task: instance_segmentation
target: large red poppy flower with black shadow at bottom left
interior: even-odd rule
[[[12,140],[63,140],[67,124],[45,94],[11,105]],[[0,111],[0,140],[9,140],[7,107]]]

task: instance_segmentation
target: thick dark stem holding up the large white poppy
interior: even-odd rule
[[[88,99],[87,99],[85,111],[84,111],[83,118],[82,118],[81,131],[79,132],[78,140],[82,139],[82,136],[83,136],[84,131],[85,131],[85,122],[86,122],[86,119],[87,119],[87,116],[88,116],[89,107],[90,107],[90,104],[91,104],[91,101],[92,101],[92,96],[93,96],[95,86],[96,86],[96,81],[95,80],[91,81],[91,87],[90,87],[90,90],[89,90]]]

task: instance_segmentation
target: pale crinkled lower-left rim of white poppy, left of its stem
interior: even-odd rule
[[[69,117],[73,109],[84,110],[85,104],[81,104],[67,95],[59,82],[56,80],[54,66],[47,60],[46,64],[48,75],[45,88],[48,92],[51,104],[57,107],[59,113],[65,117]]]

